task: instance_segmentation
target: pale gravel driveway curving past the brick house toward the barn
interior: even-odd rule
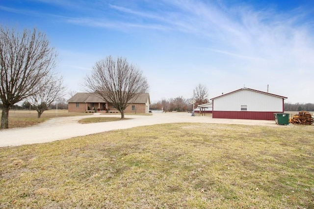
[[[218,123],[276,126],[275,121],[213,119],[211,117],[191,117],[191,113],[155,113],[152,116],[126,115],[131,120],[104,122],[97,124],[79,124],[78,120],[89,117],[119,117],[119,115],[94,115],[76,117],[57,117],[44,123],[26,128],[14,128],[0,131],[0,147],[24,144],[45,143],[68,139],[110,130],[129,129],[137,126],[149,126],[164,123]]]

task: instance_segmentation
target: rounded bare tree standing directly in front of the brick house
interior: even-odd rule
[[[113,59],[107,56],[96,62],[91,75],[85,78],[84,86],[89,92],[112,103],[124,119],[124,110],[140,93],[146,93],[149,85],[142,72],[126,58]]]

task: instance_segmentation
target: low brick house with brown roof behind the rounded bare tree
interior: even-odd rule
[[[101,112],[115,112],[117,109],[111,103],[99,98],[94,93],[77,93],[68,101],[69,112],[86,112],[96,109]],[[143,93],[125,109],[125,113],[148,113],[150,97],[148,93]]]

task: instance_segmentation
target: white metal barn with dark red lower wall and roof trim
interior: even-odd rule
[[[210,99],[212,118],[275,120],[274,113],[284,112],[285,99],[244,87]]]

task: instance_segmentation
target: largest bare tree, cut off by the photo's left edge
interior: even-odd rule
[[[34,95],[40,80],[55,67],[57,54],[49,45],[46,35],[35,28],[21,33],[0,26],[0,128],[9,128],[12,105]]]

